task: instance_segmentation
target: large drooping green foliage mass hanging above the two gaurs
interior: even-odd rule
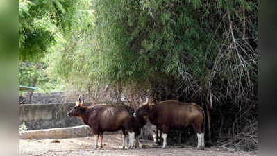
[[[162,85],[167,98],[201,101],[255,98],[256,1],[94,0],[90,9],[90,30],[74,31],[47,56],[51,72],[70,85],[165,94]]]

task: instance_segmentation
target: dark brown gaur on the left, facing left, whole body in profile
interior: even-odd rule
[[[82,121],[92,128],[92,132],[96,135],[95,149],[98,148],[98,138],[100,136],[100,148],[103,148],[103,132],[115,132],[122,130],[123,149],[128,144],[128,137],[131,141],[129,146],[135,144],[135,132],[131,127],[131,121],[134,121],[133,109],[127,105],[112,104],[96,104],[84,105],[84,99],[81,102],[79,97],[76,106],[68,112],[68,116],[78,116]]]

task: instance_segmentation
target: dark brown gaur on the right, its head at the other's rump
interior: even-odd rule
[[[196,103],[167,100],[149,105],[149,100],[146,99],[146,102],[139,107],[136,114],[137,116],[143,116],[146,121],[150,121],[150,123],[157,126],[158,130],[162,131],[162,148],[167,146],[167,133],[170,129],[183,130],[188,125],[192,125],[197,134],[197,148],[203,149],[205,147],[204,130],[202,128],[205,122],[205,114]]]

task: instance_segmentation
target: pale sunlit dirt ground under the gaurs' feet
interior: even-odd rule
[[[140,140],[140,149],[136,150],[122,150],[122,136],[121,135],[104,135],[103,149],[94,150],[94,138],[82,137],[71,139],[58,139],[59,143],[53,143],[54,139],[40,139],[40,140],[19,140],[19,150],[21,156],[113,156],[113,155],[199,155],[199,156],[212,156],[212,155],[257,155],[254,153],[235,152],[224,150],[218,147],[209,147],[205,150],[197,150],[195,147],[184,146],[167,146],[166,149],[161,149],[160,146],[153,146],[152,141]],[[99,141],[100,144],[100,141]]]

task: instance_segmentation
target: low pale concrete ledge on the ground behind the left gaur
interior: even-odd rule
[[[121,134],[117,132],[105,132],[104,134]],[[27,130],[20,132],[20,139],[65,139],[72,137],[92,136],[92,129],[87,125],[79,125],[69,128],[51,128],[44,130]]]

